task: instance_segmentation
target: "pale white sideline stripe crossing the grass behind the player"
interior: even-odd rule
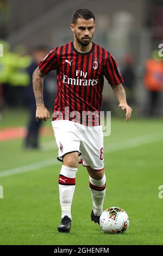
[[[118,150],[127,149],[127,148],[135,148],[140,145],[145,145],[157,141],[163,141],[163,132],[151,133],[148,135],[142,135],[135,138],[130,138],[126,141],[116,142],[111,145],[108,145],[104,148],[104,153],[112,153]],[[53,142],[54,143],[54,142]],[[40,162],[35,162],[32,164],[28,164],[26,166],[3,170],[0,172],[0,177],[10,176],[18,173],[30,172],[31,170],[39,169],[42,167],[52,166],[54,164],[59,163],[57,159],[48,159]]]

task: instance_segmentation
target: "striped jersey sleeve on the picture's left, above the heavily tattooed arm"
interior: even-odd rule
[[[42,74],[46,75],[51,70],[55,70],[58,67],[57,63],[57,50],[53,48],[47,56],[40,62],[39,69]]]

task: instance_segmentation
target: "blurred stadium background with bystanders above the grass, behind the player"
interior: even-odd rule
[[[23,110],[27,137],[40,130],[34,123],[32,73],[54,46],[73,40],[71,17],[78,8],[91,9],[96,17],[93,38],[117,59],[129,105],[135,117],[163,114],[163,1],[161,0],[21,0],[0,1],[0,120],[5,113]],[[45,79],[44,99],[52,111],[57,81],[55,71]],[[117,101],[105,81],[102,110],[120,116]],[[10,112],[11,113],[11,112]],[[26,113],[26,114],[25,114]],[[25,147],[30,147],[27,138]],[[37,147],[37,139],[32,147]]]

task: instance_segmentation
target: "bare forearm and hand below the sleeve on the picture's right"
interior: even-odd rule
[[[126,92],[121,83],[111,87],[114,92],[114,95],[116,96],[117,101],[119,102],[118,107],[126,111],[126,121],[128,122],[130,120],[131,112],[133,109],[131,109],[131,107],[127,104]]]

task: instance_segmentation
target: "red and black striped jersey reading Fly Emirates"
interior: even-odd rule
[[[53,120],[66,119],[86,126],[100,125],[104,76],[111,86],[123,82],[115,58],[93,42],[86,53],[78,52],[73,42],[54,47],[39,69],[44,75],[57,69]]]

